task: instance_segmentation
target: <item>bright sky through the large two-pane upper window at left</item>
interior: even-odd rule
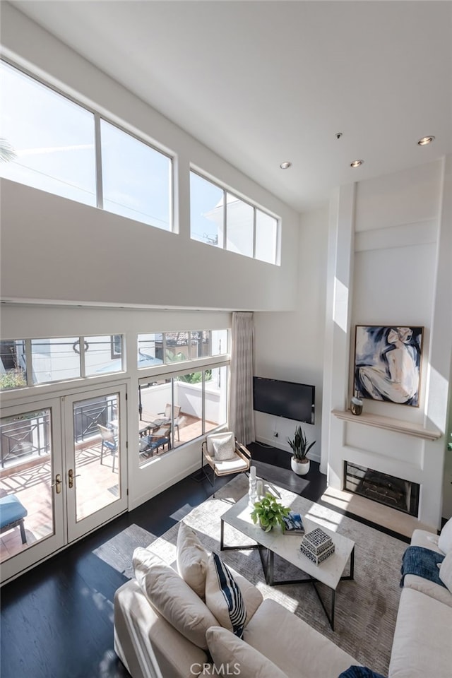
[[[92,112],[1,62],[0,176],[95,206]],[[171,230],[171,160],[101,121],[105,209]]]

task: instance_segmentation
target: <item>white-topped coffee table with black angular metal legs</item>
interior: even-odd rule
[[[302,515],[306,532],[310,532],[320,526],[321,529],[331,537],[335,545],[335,552],[333,555],[321,564],[316,565],[299,550],[299,545],[302,542],[301,535],[297,537],[295,535],[284,535],[279,526],[273,528],[270,532],[261,530],[259,525],[254,525],[253,521],[251,521],[251,509],[249,507],[249,498],[247,494],[221,516],[220,549],[222,551],[232,549],[258,549],[266,583],[270,586],[294,583],[311,583],[314,585],[314,589],[319,597],[326,617],[328,617],[328,621],[331,624],[331,629],[334,630],[335,591],[340,581],[353,579],[355,570],[355,542],[348,539],[348,537],[338,535],[338,533],[333,532],[333,530],[328,530],[328,528],[325,528],[323,525],[319,525],[316,521],[311,520],[309,513],[315,513],[315,510],[312,510],[313,506],[311,501],[304,499],[304,497],[299,496],[298,494],[289,492],[286,489],[276,487],[274,484],[272,484],[271,488],[273,494],[278,495],[278,501],[280,501],[283,506],[290,506],[292,511]],[[239,530],[239,532],[247,537],[250,537],[256,543],[251,545],[226,546],[225,523],[235,530]],[[275,554],[292,565],[295,565],[295,567],[304,572],[307,577],[275,581],[273,577],[273,561]],[[345,575],[345,566],[348,561],[350,561],[350,569],[349,573]],[[325,584],[331,589],[330,612],[326,609],[326,605],[319,594],[319,590],[316,586],[317,581]]]

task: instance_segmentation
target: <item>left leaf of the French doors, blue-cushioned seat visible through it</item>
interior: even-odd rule
[[[59,398],[41,400],[39,408],[32,403],[2,408],[0,458],[4,582],[66,542]]]

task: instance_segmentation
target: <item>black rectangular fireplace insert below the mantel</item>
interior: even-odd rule
[[[344,489],[417,518],[420,485],[345,461]]]

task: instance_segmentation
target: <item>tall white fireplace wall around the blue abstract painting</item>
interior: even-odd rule
[[[334,359],[326,361],[325,411],[348,407],[356,325],[423,326],[419,408],[364,400],[364,412],[436,427],[444,434],[452,354],[451,267],[443,261],[445,251],[449,257],[452,251],[448,249],[450,208],[445,209],[444,199],[450,166],[449,157],[369,179],[356,185],[352,201],[345,186],[337,203],[332,203],[333,213],[340,214],[345,202],[347,208],[342,218],[331,219],[330,236],[336,245],[328,280],[330,284],[334,280],[336,287],[340,283],[346,292],[342,323],[338,299],[327,308],[327,337],[332,338]],[[350,251],[341,252],[338,242],[349,242]],[[344,268],[346,258],[350,263]],[[344,460],[418,482],[420,521],[439,527],[444,435],[429,441],[369,428],[358,418],[355,423],[327,416],[322,462],[328,466],[333,487],[343,487]]]

